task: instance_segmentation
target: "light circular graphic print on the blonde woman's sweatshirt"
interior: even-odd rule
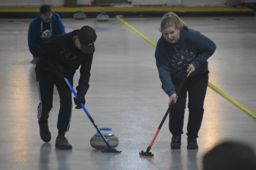
[[[191,61],[193,61],[194,58],[194,52],[188,52],[188,50],[186,50],[185,52],[178,52],[173,56],[173,59],[171,60],[171,66],[175,69],[180,70],[181,68],[191,63]]]

